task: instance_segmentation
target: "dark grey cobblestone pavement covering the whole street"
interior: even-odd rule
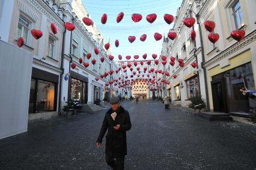
[[[126,169],[256,169],[256,127],[207,121],[158,101],[121,103],[130,112]],[[0,140],[0,169],[109,169],[105,111],[31,123],[28,133]]]

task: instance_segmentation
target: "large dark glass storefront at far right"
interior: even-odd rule
[[[255,100],[243,95],[240,88],[255,91],[252,64],[212,76],[213,110],[216,112],[254,112]]]

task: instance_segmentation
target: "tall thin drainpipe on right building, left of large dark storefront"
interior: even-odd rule
[[[203,7],[202,7],[203,8]],[[201,8],[201,9],[202,9]],[[200,10],[201,11],[201,10]],[[201,44],[201,49],[202,49],[202,62],[201,62],[201,68],[203,68],[203,74],[204,74],[204,85],[206,88],[206,106],[207,106],[207,111],[210,111],[210,103],[209,103],[209,93],[208,93],[208,85],[207,85],[207,77],[206,77],[206,68],[203,67],[203,64],[205,62],[205,56],[204,56],[204,46],[203,46],[203,38],[202,38],[202,31],[201,31],[201,25],[199,22],[199,13],[200,11],[195,15],[197,18],[197,24],[199,28],[199,35],[200,35],[200,44]]]

